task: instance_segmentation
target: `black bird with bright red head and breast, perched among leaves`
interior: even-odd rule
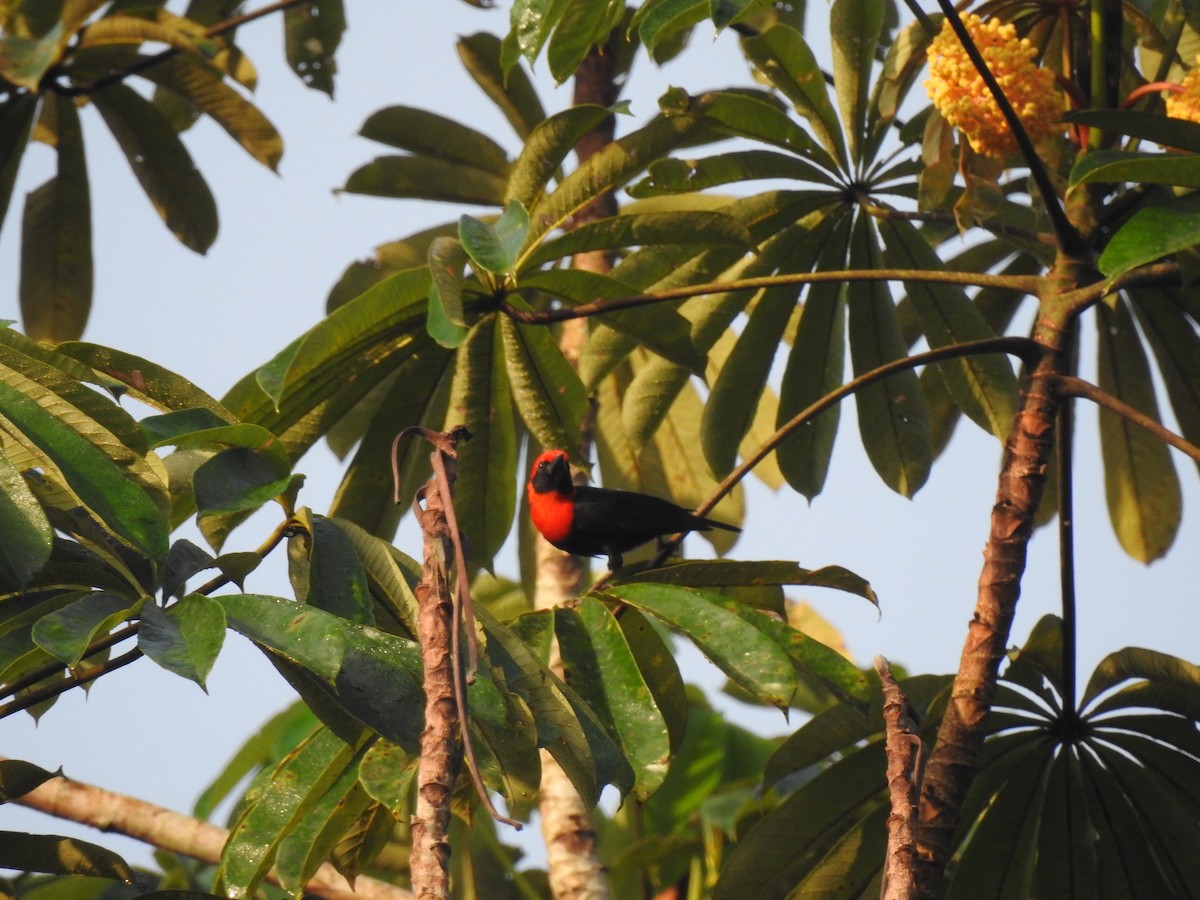
[[[606,556],[610,571],[620,569],[625,551],[655,538],[713,528],[742,530],[692,515],[661,497],[576,485],[563,450],[546,450],[534,460],[526,496],[529,517],[542,538],[575,556]]]

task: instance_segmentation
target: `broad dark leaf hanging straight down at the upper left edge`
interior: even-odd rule
[[[47,103],[58,174],[25,198],[20,310],[30,337],[58,342],[79,337],[91,310],[91,194],[79,113],[70,100]]]

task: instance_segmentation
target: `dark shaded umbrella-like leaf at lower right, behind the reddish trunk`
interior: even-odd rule
[[[1048,696],[1061,698],[1061,623],[1045,617],[1004,678],[1045,684]],[[901,684],[926,713],[926,742],[948,683],[930,676]],[[962,808],[947,895],[1115,899],[1150,887],[1156,896],[1189,896],[1200,877],[1200,668],[1166,654],[1120,650],[1096,670],[1078,713],[1026,703],[1024,691],[1004,684],[984,722],[990,737]],[[716,896],[744,895],[738,890],[751,884],[755,896],[821,893],[838,845],[859,847],[859,862],[844,877],[878,878],[888,804],[878,702],[868,719],[834,707],[780,748],[767,770],[776,790],[786,790],[784,776],[830,755],[834,761],[743,836]],[[1063,744],[1068,714],[1079,716],[1070,726],[1078,737]],[[868,754],[874,762],[857,767],[856,757]]]

